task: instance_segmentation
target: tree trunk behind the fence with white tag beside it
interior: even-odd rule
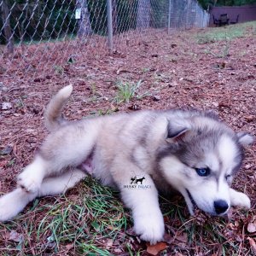
[[[91,24],[90,24],[90,12],[88,9],[87,0],[78,0],[77,9],[81,9],[81,17],[79,19],[79,37],[92,34]]]

